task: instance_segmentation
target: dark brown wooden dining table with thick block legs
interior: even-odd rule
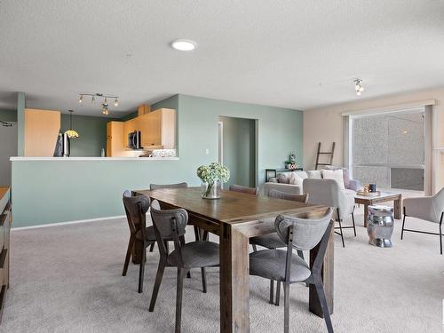
[[[250,331],[249,238],[274,232],[274,219],[283,214],[319,218],[328,207],[222,190],[215,200],[201,198],[200,187],[133,191],[160,202],[162,209],[183,208],[189,224],[217,234],[220,246],[220,332]],[[325,254],[322,278],[333,313],[334,242],[333,228]],[[310,251],[313,265],[318,248]],[[322,317],[314,286],[309,287],[309,311]]]

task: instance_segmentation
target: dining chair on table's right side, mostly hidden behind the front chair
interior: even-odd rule
[[[278,190],[270,190],[268,197],[275,199],[291,200],[294,202],[306,202],[308,194],[288,194]],[[262,246],[266,249],[279,249],[287,246],[285,242],[281,241],[281,237],[277,233],[263,234],[261,236],[251,237],[250,244],[253,246],[253,250],[258,250],[257,246]],[[297,250],[297,255],[304,259],[304,253],[301,250]],[[279,306],[281,299],[281,282],[276,282],[276,300],[274,301],[274,280],[270,280],[270,304]]]

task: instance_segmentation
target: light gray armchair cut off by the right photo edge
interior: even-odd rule
[[[403,200],[404,203],[404,218],[402,219],[402,230],[400,232],[400,239],[404,236],[404,231],[409,231],[418,234],[434,234],[440,236],[440,254],[442,254],[442,221],[444,219],[444,187],[440,192],[433,196],[424,196],[419,198],[407,198]],[[425,221],[437,223],[440,225],[440,233],[429,233],[421,230],[406,229],[406,217],[420,218]]]

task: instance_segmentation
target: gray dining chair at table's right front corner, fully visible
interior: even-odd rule
[[[289,285],[296,282],[305,282],[315,286],[327,329],[329,333],[333,332],[321,277],[329,234],[334,226],[331,220],[332,214],[333,209],[329,208],[323,217],[316,219],[280,215],[276,218],[274,226],[281,241],[286,243],[287,250],[260,250],[250,253],[251,275],[283,282],[285,333],[289,332]],[[311,269],[304,259],[293,255],[293,249],[312,250],[318,244],[318,253]]]

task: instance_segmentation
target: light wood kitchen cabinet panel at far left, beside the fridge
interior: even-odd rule
[[[59,111],[25,108],[24,155],[52,157],[59,131]]]

